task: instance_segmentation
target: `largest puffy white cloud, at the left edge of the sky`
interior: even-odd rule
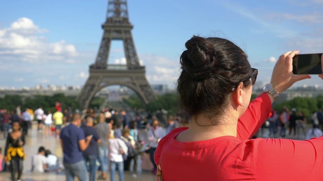
[[[60,42],[47,42],[40,29],[32,20],[20,18],[11,27],[0,29],[0,57],[16,57],[15,61],[29,63],[45,63],[50,61],[66,61],[78,56],[76,47]]]

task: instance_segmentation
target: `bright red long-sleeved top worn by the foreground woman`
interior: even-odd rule
[[[271,107],[266,94],[253,100],[238,121],[237,138],[179,142],[176,136],[187,128],[171,131],[154,155],[158,165],[161,153],[164,180],[323,180],[322,137],[248,140]]]

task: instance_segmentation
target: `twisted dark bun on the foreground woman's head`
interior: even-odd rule
[[[202,37],[193,36],[185,43],[187,48],[181,55],[182,68],[197,80],[203,80],[211,74],[216,61],[216,53],[211,42]]]

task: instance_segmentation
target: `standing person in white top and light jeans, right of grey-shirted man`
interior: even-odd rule
[[[119,179],[124,181],[124,159],[122,154],[128,154],[126,143],[120,138],[112,136],[109,139],[109,159],[110,159],[110,180],[115,180],[115,173],[118,167]]]

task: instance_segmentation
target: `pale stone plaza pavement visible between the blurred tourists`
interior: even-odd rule
[[[143,134],[145,132],[143,131]],[[143,135],[145,137],[145,135]],[[28,136],[26,137],[26,144],[24,150],[26,152],[26,160],[24,160],[24,169],[22,174],[23,181],[63,181],[66,180],[64,173],[32,173],[31,169],[31,156],[36,154],[39,146],[44,146],[45,149],[49,149],[52,153],[59,157],[60,162],[63,162],[63,152],[61,149],[60,139],[52,136],[50,138],[45,138],[43,131],[36,130],[36,124],[33,124],[31,130],[28,131]],[[3,138],[3,134],[0,135],[0,147],[5,150],[6,140]],[[145,154],[145,153],[144,153]],[[157,180],[156,176],[148,169],[152,165],[147,159],[149,155],[138,156],[138,170],[136,172],[125,171],[125,180]],[[97,172],[97,175],[99,171]],[[135,174],[135,175],[134,175]],[[0,172],[0,181],[11,180],[10,172]],[[75,179],[77,180],[77,179]],[[108,173],[107,179],[110,180],[110,175]],[[116,173],[116,180],[119,180],[118,174]]]

